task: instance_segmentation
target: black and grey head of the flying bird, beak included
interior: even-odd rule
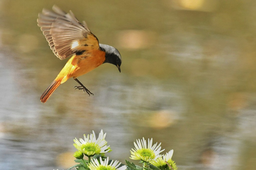
[[[117,66],[119,72],[121,72],[120,66],[122,64],[122,58],[121,58],[121,54],[119,53],[119,51],[112,46],[108,46],[105,44],[99,44],[100,45],[100,49],[102,51],[105,51],[106,55],[105,55],[105,61],[104,63],[110,63],[113,64],[115,66]]]

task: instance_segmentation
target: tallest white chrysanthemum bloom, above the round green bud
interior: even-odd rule
[[[105,140],[105,136],[106,136],[106,133],[103,134],[103,130],[101,130],[98,139],[96,139],[96,135],[94,131],[92,131],[92,134],[90,134],[90,138],[89,138],[89,135],[87,135],[86,137],[86,135],[84,134],[83,135],[84,140],[80,138],[79,139],[80,142],[79,142],[78,139],[75,138],[74,139],[75,143],[73,145],[86,156],[103,154],[110,151],[110,148],[109,148],[110,145],[109,146],[106,145],[107,142]]]

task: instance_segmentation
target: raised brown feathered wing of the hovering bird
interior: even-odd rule
[[[81,24],[78,21],[71,10],[66,13],[55,5],[52,9],[43,9],[37,23],[60,60],[77,52],[99,48],[97,37],[90,32],[85,22]]]

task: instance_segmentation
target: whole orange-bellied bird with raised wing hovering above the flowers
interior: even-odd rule
[[[81,23],[71,10],[66,13],[56,5],[52,10],[43,9],[42,13],[38,14],[37,25],[53,53],[60,60],[70,57],[56,79],[41,95],[42,103],[45,103],[57,87],[69,78],[73,78],[79,84],[74,87],[75,89],[83,90],[89,96],[93,95],[77,77],[104,63],[115,65],[121,72],[120,52],[115,47],[100,44],[85,21]]]

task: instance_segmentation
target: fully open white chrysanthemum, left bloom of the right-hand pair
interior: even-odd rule
[[[131,157],[130,159],[132,160],[142,160],[145,162],[149,162],[149,161],[154,161],[157,158],[162,157],[162,155],[160,155],[161,152],[164,151],[161,150],[161,143],[159,143],[159,145],[157,145],[157,142],[152,146],[152,142],[153,139],[151,138],[151,140],[148,139],[148,146],[147,146],[147,142],[146,140],[143,139],[142,140],[136,140],[137,144],[134,142],[134,149],[131,149]]]

